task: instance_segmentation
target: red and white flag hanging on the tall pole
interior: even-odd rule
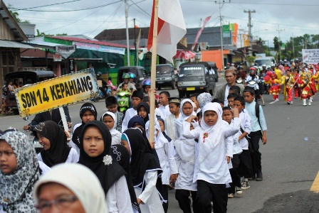
[[[158,0],[157,55],[173,63],[177,43],[186,34],[186,26],[179,0]],[[155,0],[153,0],[147,50],[152,52]]]

